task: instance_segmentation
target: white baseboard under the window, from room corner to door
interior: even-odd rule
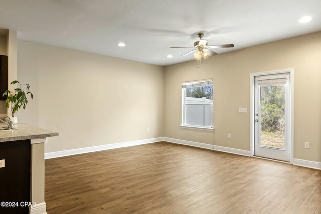
[[[250,151],[242,150],[242,149],[235,149],[235,148],[211,145],[211,144],[206,144],[206,143],[198,143],[198,142],[193,142],[193,141],[188,141],[188,140],[179,140],[179,139],[174,139],[174,138],[169,138],[169,137],[164,137],[163,139],[164,139],[164,141],[167,141],[170,143],[177,143],[177,144],[194,146],[194,147],[199,147],[199,148],[204,148],[204,149],[211,149],[211,150],[215,150],[215,151],[222,151],[222,152],[227,152],[227,153],[232,153],[232,154],[238,154],[238,155],[243,155],[243,156],[250,156]]]

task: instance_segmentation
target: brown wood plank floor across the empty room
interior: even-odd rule
[[[51,213],[321,213],[321,171],[158,142],[45,161]]]

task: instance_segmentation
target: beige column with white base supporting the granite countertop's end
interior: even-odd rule
[[[31,214],[45,214],[45,145],[47,138],[31,139]]]

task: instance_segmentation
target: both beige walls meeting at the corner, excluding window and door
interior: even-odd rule
[[[318,32],[220,54],[203,60],[202,71],[195,60],[164,68],[18,41],[18,78],[35,94],[19,122],[60,133],[45,152],[162,136],[250,150],[250,115],[238,113],[250,112],[250,73],[293,68],[294,158],[321,162],[320,38]],[[209,78],[215,131],[181,128],[182,82]]]

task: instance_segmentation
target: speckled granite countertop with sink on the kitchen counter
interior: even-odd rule
[[[6,124],[0,123],[0,126]],[[26,139],[41,139],[46,137],[58,136],[58,132],[49,131],[28,124],[14,124],[14,130],[0,131],[0,142],[26,140]]]

